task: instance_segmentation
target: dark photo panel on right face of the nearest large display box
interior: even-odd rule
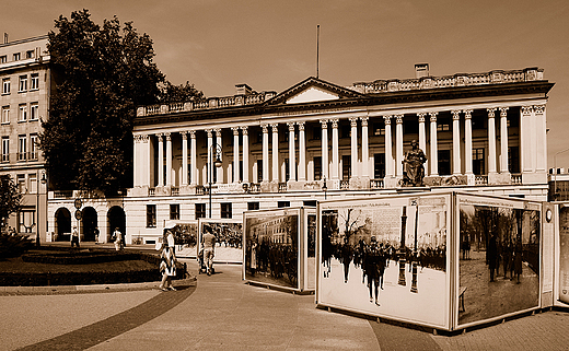
[[[539,307],[541,203],[457,195],[458,326]]]

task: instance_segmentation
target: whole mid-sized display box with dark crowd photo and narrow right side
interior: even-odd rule
[[[244,280],[299,292],[314,290],[310,274],[315,268],[306,266],[315,265],[315,209],[248,211],[243,225]]]

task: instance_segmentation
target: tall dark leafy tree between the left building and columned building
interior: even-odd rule
[[[152,40],[131,22],[120,27],[115,16],[100,26],[90,16],[60,15],[49,33],[57,87],[39,140],[55,188],[114,195],[132,184],[136,106],[201,93],[165,81]]]

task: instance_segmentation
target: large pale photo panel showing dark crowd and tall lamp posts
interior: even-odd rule
[[[450,199],[320,203],[317,303],[449,328]]]

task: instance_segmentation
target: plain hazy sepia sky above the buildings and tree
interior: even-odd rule
[[[174,84],[206,96],[291,87],[316,75],[338,85],[430,74],[543,68],[548,94],[548,166],[569,168],[567,0],[0,0],[10,40],[53,31],[88,9],[98,24],[132,21],[154,43],[154,62]]]

